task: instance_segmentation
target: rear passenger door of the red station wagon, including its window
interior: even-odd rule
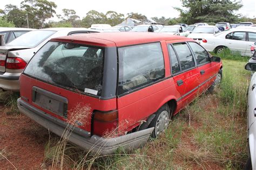
[[[173,80],[184,107],[197,95],[200,83],[199,71],[186,42],[169,44],[169,51]]]

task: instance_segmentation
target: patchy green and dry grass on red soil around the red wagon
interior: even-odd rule
[[[50,135],[45,144],[45,165],[59,169],[244,168],[247,159],[246,92],[250,82],[250,72],[244,66],[248,58],[228,52],[220,57],[224,66],[220,87],[214,94],[199,96],[174,116],[158,139],[150,140],[133,152],[119,148],[116,154],[100,156],[68,143],[72,129],[67,129],[63,138]],[[9,108],[9,113],[17,113],[17,97],[0,93],[0,103]],[[80,111],[86,112],[81,108]]]

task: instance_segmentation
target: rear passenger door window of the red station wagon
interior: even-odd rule
[[[195,67],[192,53],[185,42],[173,44],[173,47],[177,52],[182,71]]]

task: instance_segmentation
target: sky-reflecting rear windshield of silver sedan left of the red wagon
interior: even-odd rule
[[[28,33],[25,33],[21,37],[18,37],[15,40],[11,41],[8,45],[27,46],[31,48],[36,47],[38,44],[49,38],[55,32],[56,31],[46,30],[30,31]]]

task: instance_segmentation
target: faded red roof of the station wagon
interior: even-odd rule
[[[136,44],[146,44],[149,42],[159,42],[165,40],[191,40],[187,37],[173,36],[163,33],[152,32],[105,32],[79,34],[79,36],[65,36],[51,39],[52,41],[64,41],[82,43],[88,45],[104,47],[122,47]]]

